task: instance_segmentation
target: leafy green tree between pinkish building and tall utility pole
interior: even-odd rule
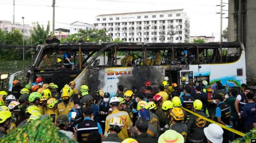
[[[50,32],[50,22],[48,21],[47,28],[44,30],[44,25],[40,25],[38,22],[33,23],[34,31],[32,31],[33,45],[44,44]]]

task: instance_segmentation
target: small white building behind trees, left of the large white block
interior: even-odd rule
[[[70,24],[70,34],[78,33],[79,29],[91,30],[93,29],[93,25],[81,21],[76,21]]]

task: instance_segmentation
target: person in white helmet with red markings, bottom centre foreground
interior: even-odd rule
[[[102,139],[102,143],[121,143],[123,140],[118,137],[117,134],[119,134],[123,127],[122,119],[119,117],[113,117],[110,119],[108,126],[110,134]]]

